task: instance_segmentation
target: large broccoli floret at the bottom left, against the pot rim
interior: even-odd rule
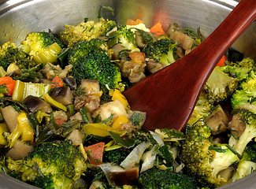
[[[20,180],[41,188],[72,188],[86,171],[83,154],[68,141],[51,141],[35,148],[23,161],[8,162]]]

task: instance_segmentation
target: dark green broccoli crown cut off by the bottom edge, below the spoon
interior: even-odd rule
[[[191,176],[170,170],[148,169],[139,175],[140,188],[144,189],[193,189],[197,187],[197,181]]]

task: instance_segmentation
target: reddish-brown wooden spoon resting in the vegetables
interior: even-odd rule
[[[256,1],[242,0],[190,54],[124,91],[132,109],[147,113],[143,128],[183,130],[217,62],[255,18]]]

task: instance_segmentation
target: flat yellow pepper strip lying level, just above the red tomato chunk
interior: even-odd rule
[[[125,132],[118,131],[106,124],[84,124],[82,132],[86,135],[109,136],[110,132],[116,132],[119,135],[124,135]]]

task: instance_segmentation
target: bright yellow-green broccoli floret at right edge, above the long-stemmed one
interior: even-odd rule
[[[256,72],[254,70],[249,72],[247,80],[244,80],[239,85],[237,90],[231,98],[233,109],[250,109],[256,113]]]

